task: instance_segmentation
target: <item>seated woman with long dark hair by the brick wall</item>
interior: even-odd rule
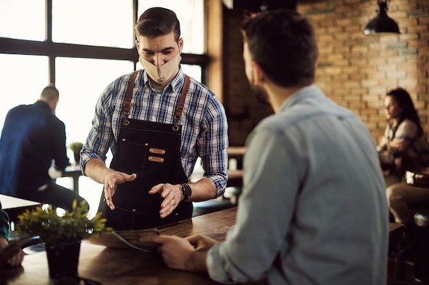
[[[395,222],[412,223],[409,203],[429,202],[429,189],[406,185],[406,170],[417,171],[426,165],[429,146],[410,94],[402,88],[387,93],[384,112],[389,124],[378,153],[385,170],[387,200]]]

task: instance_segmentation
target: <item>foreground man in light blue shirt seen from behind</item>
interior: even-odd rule
[[[317,44],[295,11],[243,25],[245,73],[275,114],[246,141],[236,225],[206,236],[142,237],[169,267],[222,283],[380,285],[387,278],[388,209],[367,126],[314,85]]]

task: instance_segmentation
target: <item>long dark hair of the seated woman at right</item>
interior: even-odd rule
[[[392,96],[395,98],[397,104],[400,105],[400,108],[402,109],[399,123],[405,119],[413,121],[417,125],[418,135],[423,134],[423,128],[421,128],[419,115],[414,107],[414,103],[410,94],[403,88],[397,87],[387,92],[386,96]]]

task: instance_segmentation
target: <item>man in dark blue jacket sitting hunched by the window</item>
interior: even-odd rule
[[[0,138],[0,193],[69,211],[73,200],[84,198],[49,176],[52,161],[58,170],[69,165],[65,126],[55,115],[59,100],[49,85],[36,103],[8,111]]]

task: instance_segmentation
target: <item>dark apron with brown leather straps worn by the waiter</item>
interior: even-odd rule
[[[188,182],[180,161],[182,126],[180,116],[188,91],[186,75],[174,124],[129,119],[132,90],[136,72],[132,75],[124,103],[125,118],[119,131],[117,148],[110,168],[127,174],[137,174],[132,182],[117,185],[112,197],[114,210],[101,195],[99,212],[106,217],[106,225],[114,230],[153,228],[192,217],[192,202],[180,202],[167,217],[160,217],[162,198],[149,190],[160,183],[172,185]]]

